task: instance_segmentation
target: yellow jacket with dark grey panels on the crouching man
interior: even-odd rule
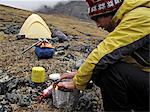
[[[109,64],[130,56],[148,44],[150,0],[124,0],[112,23],[117,25],[114,31],[90,53],[74,76],[73,82],[77,89],[85,89],[96,65],[106,69]],[[149,65],[148,62],[144,62]]]

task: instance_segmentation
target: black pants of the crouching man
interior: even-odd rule
[[[95,67],[92,80],[101,88],[105,111],[148,111],[149,76],[124,62],[102,71]]]

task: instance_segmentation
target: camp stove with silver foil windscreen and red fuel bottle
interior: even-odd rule
[[[48,98],[50,95],[52,95],[53,105],[56,108],[65,109],[77,102],[80,91],[77,89],[58,87],[57,84],[61,81],[69,81],[69,79],[54,81],[47,89],[43,90],[41,95],[37,97],[37,101],[40,103],[45,98]]]

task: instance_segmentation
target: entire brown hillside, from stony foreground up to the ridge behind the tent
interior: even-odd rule
[[[107,33],[98,29],[93,23],[73,17],[39,13],[51,30],[58,28],[69,39],[63,43],[54,43],[54,47],[61,50],[63,54],[57,54],[52,59],[38,60],[33,48],[23,55],[21,54],[24,49],[37,40],[16,39],[23,22],[32,13],[0,5],[0,112],[4,110],[8,112],[65,111],[65,109],[54,108],[50,98],[39,104],[36,100],[39,91],[41,92],[51,84],[48,80],[48,75],[51,73],[74,71],[76,63],[85,59]],[[34,66],[45,68],[46,86],[33,86],[30,77]],[[3,79],[9,81],[6,83]],[[103,110],[99,89],[94,87],[83,92],[82,96],[84,97],[77,103],[76,110],[91,109],[91,111],[99,112]],[[80,102],[83,100],[89,102],[89,107],[86,107],[86,103]]]

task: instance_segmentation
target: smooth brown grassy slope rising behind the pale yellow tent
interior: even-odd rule
[[[8,25],[10,22],[22,26],[25,19],[33,12],[18,10],[15,8],[0,5],[0,26]],[[58,28],[67,35],[78,35],[85,37],[90,34],[94,37],[103,37],[104,31],[98,29],[93,23],[80,21],[76,18],[64,15],[39,14],[47,23],[50,29]]]

